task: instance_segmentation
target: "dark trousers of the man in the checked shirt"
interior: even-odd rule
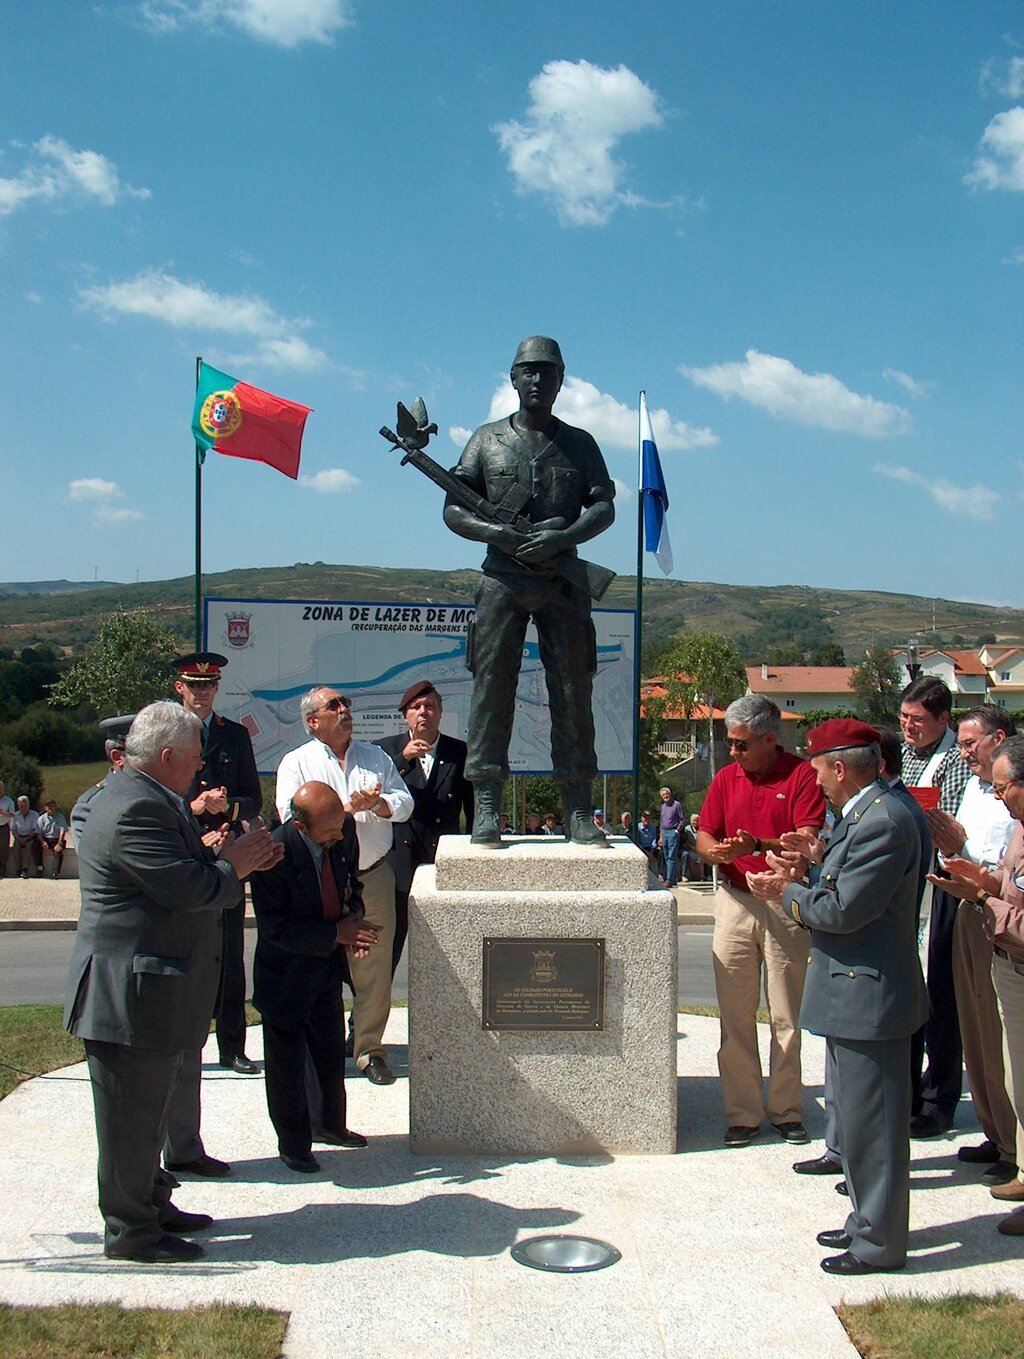
[[[953,927],[959,905],[956,897],[936,887],[927,936],[926,983],[932,1014],[923,1030],[914,1034],[911,1051],[914,1112],[937,1109],[949,1118],[960,1102],[964,1063],[953,987]],[[927,1070],[922,1076],[925,1055]]]

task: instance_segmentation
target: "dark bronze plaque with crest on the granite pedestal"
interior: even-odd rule
[[[483,1027],[600,1033],[604,939],[484,939]]]

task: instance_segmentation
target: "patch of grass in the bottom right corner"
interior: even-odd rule
[[[1024,1302],[991,1298],[880,1298],[838,1309],[864,1359],[1020,1359]]]

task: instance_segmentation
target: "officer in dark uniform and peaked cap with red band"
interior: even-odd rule
[[[262,805],[260,775],[249,733],[241,722],[214,712],[220,671],[227,656],[193,651],[174,666],[174,692],[188,712],[203,723],[203,768],[192,780],[188,802],[204,830],[224,826],[241,834],[242,822],[258,817]],[[224,912],[224,977],[216,1040],[220,1065],[242,1075],[258,1067],[245,1055],[245,901]]]

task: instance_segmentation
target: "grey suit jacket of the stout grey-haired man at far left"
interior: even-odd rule
[[[131,765],[90,794],[64,1025],[101,1042],[200,1048],[220,981],[220,912],[242,885],[173,795]]]

